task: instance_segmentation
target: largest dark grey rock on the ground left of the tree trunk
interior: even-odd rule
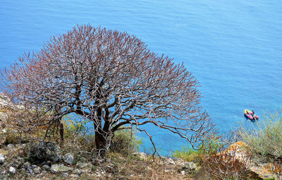
[[[61,161],[61,148],[55,143],[41,141],[30,148],[29,158],[33,161]]]

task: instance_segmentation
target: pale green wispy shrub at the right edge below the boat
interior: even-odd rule
[[[281,112],[267,115],[265,123],[252,131],[242,129],[240,135],[253,152],[264,157],[282,158]]]

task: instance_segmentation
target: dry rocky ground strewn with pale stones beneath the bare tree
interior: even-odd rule
[[[102,160],[75,160],[70,152],[61,155],[55,143],[37,144],[36,156],[31,154],[34,150],[25,152],[27,146],[30,143],[2,145],[0,179],[192,179],[197,169],[192,162],[169,157],[152,162],[143,152],[134,157],[110,154]]]

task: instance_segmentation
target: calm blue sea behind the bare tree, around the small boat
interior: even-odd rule
[[[252,126],[244,109],[254,109],[262,123],[264,112],[281,107],[281,0],[1,0],[0,68],[86,23],[136,35],[153,52],[183,62],[221,132]],[[163,155],[188,146],[168,131],[146,128]],[[149,139],[138,136],[149,152]]]

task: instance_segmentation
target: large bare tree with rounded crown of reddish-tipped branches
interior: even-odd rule
[[[150,52],[137,37],[90,25],[52,37],[1,71],[5,94],[37,114],[19,120],[25,131],[60,126],[63,116],[76,113],[93,122],[100,156],[126,124],[145,131],[153,145],[141,125],[167,129],[192,145],[209,138],[214,125],[200,107],[197,86],[183,64]]]

